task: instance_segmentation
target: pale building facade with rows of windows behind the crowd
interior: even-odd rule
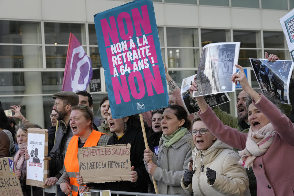
[[[3,2],[4,6],[12,4],[8,0]],[[67,10],[60,14],[60,19],[56,19],[55,12],[46,11],[46,7],[52,9],[54,6],[65,6],[60,5],[62,2],[59,1],[39,1],[43,9],[39,10],[42,17],[36,17],[37,19],[32,19],[26,11],[24,11],[24,17],[21,17],[21,14],[9,15],[9,10],[1,14],[4,8],[0,8],[0,101],[2,107],[6,110],[11,105],[21,105],[23,115],[44,128],[51,126],[49,114],[54,104],[52,94],[61,91],[70,32],[77,37],[87,55],[92,59],[93,69],[101,69],[103,73],[94,22],[88,15],[94,15],[129,1],[96,1],[96,5],[98,5],[97,2],[101,3],[99,4],[101,10],[92,8],[92,3],[95,4],[94,0],[71,2],[83,2],[85,9],[92,13],[81,13],[81,20],[69,19],[66,14],[70,11]],[[280,59],[290,59],[281,26],[268,27],[265,22],[262,22],[262,17],[274,11],[275,14],[272,14],[272,17],[277,20],[275,25],[279,25],[279,18],[294,7],[294,0],[281,0],[279,5],[276,5],[277,1],[265,0],[153,0],[153,2],[162,58],[168,65],[169,74],[179,86],[183,78],[197,73],[202,47],[208,43],[241,42],[239,65],[245,67],[251,67],[249,58],[264,58],[265,51],[278,55]],[[51,6],[49,7],[46,3],[54,5],[49,4]],[[32,9],[37,9],[37,6]],[[176,13],[177,16],[172,16],[173,9],[193,9],[199,18],[195,21],[191,18],[186,20],[185,17],[194,13],[187,13],[187,16]],[[220,10],[219,13],[222,15],[229,10],[231,15],[226,20],[231,21],[231,25],[219,23],[216,25],[215,21],[204,22],[200,14],[207,9]],[[243,23],[248,24],[242,28],[242,24],[232,24],[235,18],[233,13],[237,11],[240,14],[248,13],[248,16],[256,12],[262,12],[263,15],[257,17],[256,21],[243,19]],[[185,10],[182,10],[183,12]],[[210,13],[207,14],[209,17]],[[242,19],[246,16],[239,17]],[[225,16],[222,17],[225,18]],[[102,91],[92,94],[93,111],[96,116],[100,116],[101,98],[107,95],[103,78],[101,81]],[[258,87],[252,69],[251,84],[253,87]],[[223,107],[232,114],[235,112],[236,93],[230,93],[232,101]]]

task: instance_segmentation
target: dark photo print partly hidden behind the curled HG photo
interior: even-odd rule
[[[193,75],[183,79],[182,86],[181,86],[181,95],[182,95],[181,98],[188,114],[193,114],[200,110],[196,102],[196,99],[194,97],[192,98],[189,92],[191,81],[194,81],[195,76],[196,75]],[[228,96],[228,93],[226,92],[206,95],[204,96],[204,99],[206,103],[209,104],[210,107],[214,107],[214,106],[221,105],[231,101],[231,98]]]

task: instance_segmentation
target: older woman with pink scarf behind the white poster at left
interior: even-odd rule
[[[25,184],[26,174],[27,174],[27,161],[25,160],[25,150],[28,147],[28,128],[34,128],[34,125],[28,122],[20,122],[15,126],[16,140],[19,150],[13,157],[14,163],[16,165],[17,171],[15,171],[16,177],[21,182],[21,187],[24,195],[30,195],[30,188]]]

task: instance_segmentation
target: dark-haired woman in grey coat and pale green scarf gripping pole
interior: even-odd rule
[[[179,105],[170,105],[161,120],[162,137],[159,142],[158,160],[150,149],[145,149],[146,170],[157,181],[160,194],[187,195],[181,187],[181,178],[188,171],[192,158],[192,137],[188,131],[191,122],[186,110]],[[152,163],[148,163],[152,160]]]

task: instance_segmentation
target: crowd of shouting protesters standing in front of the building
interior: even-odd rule
[[[279,59],[267,53],[266,58]],[[237,117],[218,106],[210,108],[203,96],[196,97],[198,113],[188,115],[180,89],[166,70],[170,106],[143,113],[147,149],[138,115],[113,119],[107,96],[100,100],[99,118],[92,112],[90,93],[54,93],[49,115],[52,126],[48,128],[51,160],[45,185],[59,184],[58,195],[77,196],[90,188],[155,193],[154,179],[160,194],[293,195],[293,108],[252,89],[243,68],[236,66],[240,72],[232,75],[232,82],[239,82],[243,89],[237,98]],[[201,88],[195,81],[189,89],[191,95]],[[291,104],[292,95],[290,89]],[[10,110],[14,114],[7,117],[0,102],[0,157],[13,156],[15,175],[24,195],[30,195],[25,183],[28,128],[40,126],[28,122],[19,105]],[[78,173],[78,148],[128,143],[130,181],[83,183]],[[38,194],[37,188],[33,191]]]

